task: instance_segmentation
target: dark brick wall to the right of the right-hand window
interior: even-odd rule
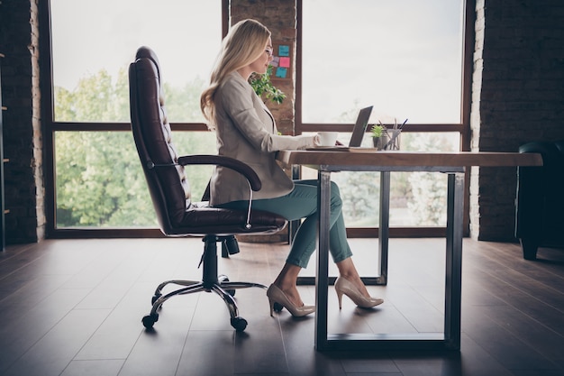
[[[472,150],[564,139],[564,3],[478,0]],[[516,169],[472,171],[470,231],[514,240]]]

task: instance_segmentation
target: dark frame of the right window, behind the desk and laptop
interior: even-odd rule
[[[462,74],[460,93],[460,123],[453,124],[405,124],[402,132],[410,133],[459,133],[460,151],[470,150],[470,109],[472,99],[472,72],[476,22],[476,0],[463,0],[463,48],[462,48]],[[297,35],[296,35],[296,134],[336,131],[342,133],[352,132],[353,124],[329,124],[329,123],[304,123],[302,120],[302,25],[303,0],[296,0]],[[469,234],[469,171],[465,173],[465,195],[464,195],[464,235]],[[394,237],[431,237],[444,236],[446,227],[391,227],[390,236]],[[347,228],[349,237],[378,237],[378,227],[354,227]]]

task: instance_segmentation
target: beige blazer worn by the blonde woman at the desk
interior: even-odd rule
[[[274,117],[238,72],[233,72],[215,96],[215,133],[219,155],[247,163],[262,182],[253,199],[280,197],[294,188],[276,161],[276,152],[314,146],[313,136],[277,134]],[[238,172],[216,167],[210,184],[210,204],[250,198],[249,183]]]

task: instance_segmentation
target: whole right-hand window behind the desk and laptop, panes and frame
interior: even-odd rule
[[[346,142],[359,109],[374,105],[369,124],[406,120],[402,150],[459,151],[468,126],[465,3],[298,2],[297,133],[336,130]],[[371,142],[368,134],[364,142]],[[446,225],[442,178],[392,173],[390,225]],[[377,227],[378,174],[336,173],[332,179],[345,190],[347,226],[358,227],[359,234]],[[347,193],[348,187],[354,191]]]

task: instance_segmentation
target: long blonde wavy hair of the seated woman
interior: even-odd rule
[[[235,23],[223,39],[222,49],[212,70],[210,85],[200,96],[200,109],[211,130],[215,129],[214,96],[217,88],[232,72],[259,59],[270,35],[270,31],[262,23],[248,19]]]

